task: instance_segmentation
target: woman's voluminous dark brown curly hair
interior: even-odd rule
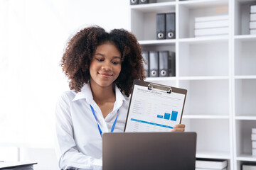
[[[70,89],[81,91],[90,81],[90,62],[97,46],[112,42],[121,53],[121,72],[114,81],[123,94],[132,93],[134,79],[144,80],[142,48],[137,38],[124,29],[114,29],[107,33],[99,26],[84,28],[68,41],[60,61],[63,72],[68,77]]]

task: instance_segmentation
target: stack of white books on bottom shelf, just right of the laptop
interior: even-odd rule
[[[228,169],[228,160],[226,159],[196,159],[196,170],[226,170]]]

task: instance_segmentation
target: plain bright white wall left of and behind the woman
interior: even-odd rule
[[[129,0],[0,0],[0,146],[53,148],[68,38],[90,25],[129,30],[129,21]]]

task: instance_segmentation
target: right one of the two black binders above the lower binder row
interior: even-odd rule
[[[175,13],[166,13],[166,39],[176,38]]]

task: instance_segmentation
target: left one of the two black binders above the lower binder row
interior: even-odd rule
[[[156,14],[156,39],[163,40],[166,35],[166,13]]]

